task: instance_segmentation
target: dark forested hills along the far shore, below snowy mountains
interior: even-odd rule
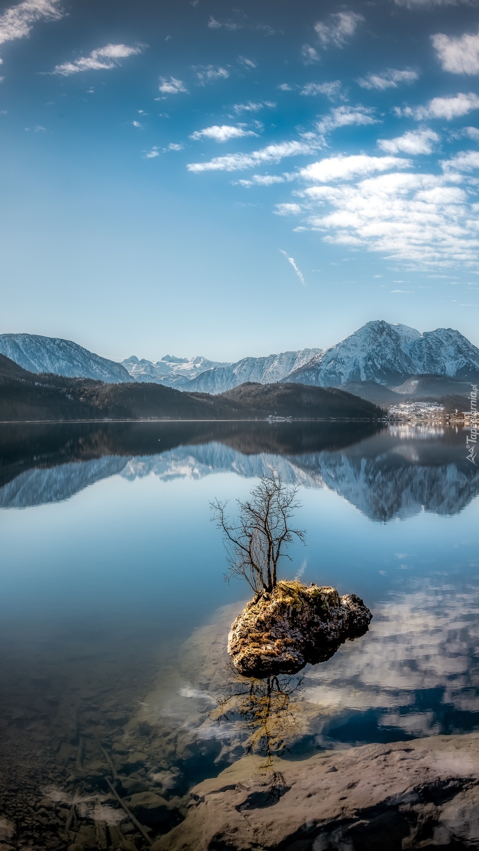
[[[0,355],[0,421],[372,419],[380,408],[336,389],[242,385],[221,396],[157,384],[34,374]]]

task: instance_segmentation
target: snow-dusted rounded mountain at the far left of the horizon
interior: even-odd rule
[[[94,378],[111,384],[133,381],[121,363],[95,355],[71,340],[39,334],[0,334],[0,354],[32,373]]]

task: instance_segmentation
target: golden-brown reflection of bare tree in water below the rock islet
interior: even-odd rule
[[[302,682],[302,677],[287,675],[262,680],[237,676],[214,714],[218,721],[240,717],[248,730],[247,753],[264,755],[265,767],[271,767],[273,757],[287,749],[291,728],[297,726],[298,706],[290,699]]]

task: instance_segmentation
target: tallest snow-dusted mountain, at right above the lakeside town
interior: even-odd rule
[[[322,387],[370,380],[391,386],[418,374],[476,378],[479,349],[453,328],[420,334],[407,325],[378,320],[320,352],[286,380]]]

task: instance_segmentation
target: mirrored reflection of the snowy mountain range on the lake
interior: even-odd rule
[[[44,452],[38,457],[31,450],[26,460],[17,454],[10,468],[16,476],[6,476],[0,505],[25,507],[65,500],[116,474],[130,480],[150,475],[164,481],[199,479],[218,472],[248,478],[267,474],[271,466],[288,482],[327,487],[370,519],[382,522],[423,510],[456,514],[479,493],[479,469],[465,458],[463,432],[407,427],[378,432],[367,427],[360,431],[366,437],[355,441],[351,426],[342,433],[339,429],[336,436],[329,425],[325,428],[301,424],[298,430],[291,424],[276,428],[261,423],[201,426],[197,433],[190,427],[181,434],[177,427],[180,433],[175,441],[173,431],[170,434],[168,428],[158,429],[155,424],[143,443],[137,443],[128,431],[123,443],[115,445],[106,439],[108,434],[111,437],[111,426],[106,434],[95,426],[88,439],[62,444],[61,453],[58,449],[56,454]],[[181,437],[191,443],[182,444]]]

